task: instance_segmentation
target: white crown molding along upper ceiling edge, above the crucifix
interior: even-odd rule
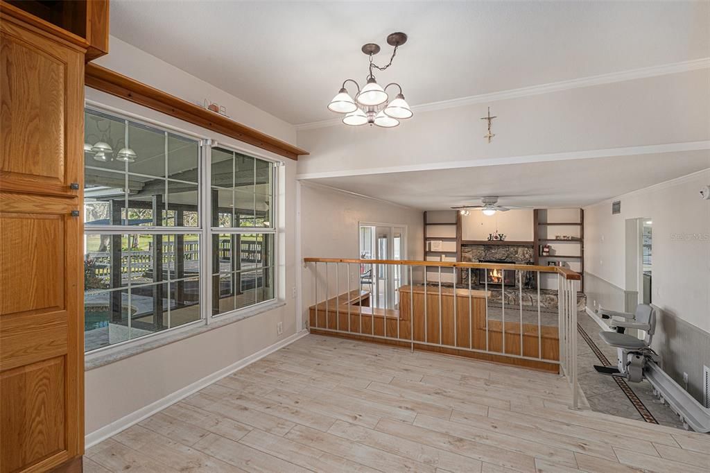
[[[430,102],[428,104],[413,105],[413,112],[432,112],[434,110],[452,109],[455,107],[466,107],[467,105],[480,104],[485,102],[496,102],[498,100],[518,99],[530,95],[549,94],[561,90],[579,89],[581,87],[592,87],[594,85],[612,84],[613,82],[624,82],[627,80],[643,79],[645,77],[657,77],[660,75],[677,74],[679,72],[689,72],[699,69],[710,69],[710,58],[701,58],[683,62],[673,62],[672,64],[641,67],[621,72],[611,72],[609,74],[592,75],[579,79],[563,80],[560,82],[550,82],[548,84],[533,85],[530,87],[520,87],[519,89],[502,90],[489,94],[471,95],[459,99],[442,100],[441,102]],[[296,131],[312,130],[336,126],[342,123],[342,119],[334,118],[310,123],[294,125]]]

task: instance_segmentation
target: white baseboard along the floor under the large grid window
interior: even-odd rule
[[[86,437],[84,437],[84,445],[86,445],[86,448],[92,447],[93,445],[102,442],[102,440],[106,440],[112,435],[116,435],[117,433],[121,432],[121,430],[125,430],[131,427],[131,425],[135,425],[141,422],[141,420],[157,413],[158,411],[162,411],[166,407],[186,398],[187,396],[190,396],[193,393],[196,393],[197,391],[200,391],[200,389],[204,388],[205,386],[209,386],[215,381],[218,381],[219,379],[222,379],[225,376],[229,376],[230,374],[234,373],[234,371],[239,371],[240,369],[244,368],[244,366],[248,366],[254,361],[258,361],[259,359],[266,357],[268,354],[271,354],[276,350],[285,347],[288,344],[292,344],[297,339],[305,337],[306,335],[308,335],[307,330],[297,332],[291,335],[290,337],[286,337],[280,342],[276,342],[275,344],[266,347],[265,349],[262,349],[254,354],[249,355],[249,357],[240,359],[239,361],[236,361],[236,363],[230,364],[229,366],[226,366],[220,369],[219,371],[215,371],[209,376],[205,376],[204,378],[197,380],[192,384],[188,384],[184,388],[178,389],[178,391],[170,393],[168,396],[165,396],[162,399],[158,399],[158,401],[155,401],[154,403],[148,404],[148,406],[138,409],[138,411],[134,411],[129,415],[120,418],[119,420],[114,420],[114,422],[110,423],[109,425],[104,425],[104,427],[94,430],[91,433],[88,433]]]

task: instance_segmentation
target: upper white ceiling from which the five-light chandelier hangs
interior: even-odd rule
[[[710,56],[710,2],[111,1],[111,34],[292,124],[332,118],[364,43],[404,31],[412,105]]]

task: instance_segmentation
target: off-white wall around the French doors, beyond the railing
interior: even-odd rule
[[[359,258],[359,222],[404,225],[407,227],[407,249],[404,259],[423,258],[423,214],[421,210],[352,195],[320,185],[300,186],[300,241],[302,257]],[[313,264],[302,266],[302,300],[304,317],[308,306],[315,303]],[[335,287],[335,266],[330,267],[329,297],[346,292],[347,269],[339,273],[340,287]],[[319,299],[325,295],[324,264],[319,267]],[[357,265],[351,265],[351,290],[357,288]],[[303,319],[305,323],[305,318]]]

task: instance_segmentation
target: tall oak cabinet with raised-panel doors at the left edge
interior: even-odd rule
[[[0,472],[80,468],[86,48],[0,19]]]

